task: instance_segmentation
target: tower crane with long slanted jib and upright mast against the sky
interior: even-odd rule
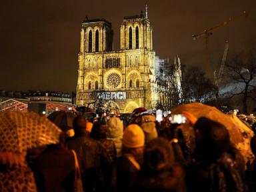
[[[201,33],[198,33],[197,35],[192,35],[193,39],[194,40],[197,40],[199,37],[205,37],[205,54],[206,54],[206,57],[205,57],[205,64],[209,67],[211,67],[210,65],[210,57],[209,57],[209,37],[211,35],[213,35],[213,32],[214,30],[216,29],[219,29],[220,27],[224,27],[225,25],[233,22],[233,21],[236,21],[237,19],[241,19],[242,17],[246,17],[247,16],[247,13],[245,11],[243,11],[243,13],[240,13],[239,15],[236,15],[235,17],[231,17],[229,18],[228,21],[224,21],[222,23],[219,23],[213,27],[210,27],[208,29],[205,29],[205,31],[201,32]]]

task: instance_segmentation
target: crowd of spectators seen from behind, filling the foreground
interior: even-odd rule
[[[10,157],[0,145],[0,191],[256,191],[256,161],[245,162],[227,127],[183,115],[76,115],[58,143]]]

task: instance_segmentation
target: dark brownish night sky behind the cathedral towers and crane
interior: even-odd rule
[[[191,35],[226,21],[242,11],[249,14],[214,31],[211,64],[218,67],[225,41],[228,57],[256,47],[255,0],[149,0],[153,48],[160,57],[181,57],[185,65],[205,66],[204,39]],[[75,91],[81,22],[105,18],[113,25],[114,48],[124,16],[139,15],[142,0],[11,0],[0,5],[0,89]]]

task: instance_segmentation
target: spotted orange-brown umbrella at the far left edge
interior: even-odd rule
[[[27,149],[59,143],[61,130],[37,113],[0,113],[0,151],[23,153]]]

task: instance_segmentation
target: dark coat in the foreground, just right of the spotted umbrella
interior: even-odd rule
[[[33,162],[38,191],[74,191],[75,157],[63,145],[49,145]]]

